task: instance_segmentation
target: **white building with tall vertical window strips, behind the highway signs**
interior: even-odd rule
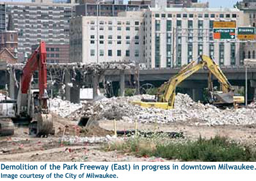
[[[214,21],[243,25],[243,12],[228,8],[152,8],[145,13],[147,67],[180,67],[198,56],[214,56],[219,65],[239,65],[239,43],[214,40]]]

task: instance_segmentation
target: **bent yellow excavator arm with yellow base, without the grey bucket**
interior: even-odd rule
[[[158,89],[156,95],[156,102],[143,100],[142,102],[133,102],[143,107],[157,107],[162,109],[173,109],[174,100],[175,100],[175,89],[182,81],[187,79],[189,76],[193,75],[198,70],[207,67],[211,74],[213,74],[218,81],[221,83],[221,90],[223,93],[226,93],[225,97],[220,98],[217,102],[221,102],[221,99],[225,102],[228,100],[228,96],[232,96],[231,100],[228,100],[228,103],[233,102],[234,88],[228,82],[227,77],[223,74],[220,67],[215,63],[215,61],[209,56],[200,56],[200,61],[191,61],[186,67],[181,68],[179,73],[173,76],[168,82],[162,84]],[[224,95],[224,94],[223,94]]]

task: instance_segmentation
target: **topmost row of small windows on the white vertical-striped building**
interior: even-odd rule
[[[160,14],[156,14],[155,15],[155,17],[156,18],[159,18],[160,17]],[[161,14],[161,17],[162,18],[165,18],[166,17],[166,14]],[[172,15],[172,14],[167,14],[167,17],[168,18],[172,18],[172,17],[175,17],[175,15]],[[194,14],[176,14],[176,17],[177,18],[181,18],[181,17],[183,17],[183,18],[193,18],[193,17],[196,17],[196,15],[194,15]],[[214,14],[214,13],[211,13],[211,14],[197,14],[197,17],[198,18],[202,18],[202,17],[204,17],[204,18],[209,18],[209,17],[211,17],[211,18],[215,18],[215,17],[218,17],[218,14]],[[220,14],[220,18],[224,18],[224,17],[226,17],[226,18],[230,18],[230,17],[232,17],[232,18],[236,18],[237,17],[237,14],[232,14],[232,15],[230,15],[229,13],[228,14]]]

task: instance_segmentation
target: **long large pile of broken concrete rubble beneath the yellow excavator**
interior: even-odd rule
[[[175,109],[163,110],[134,106],[132,100],[154,98],[143,95],[134,97],[104,98],[94,105],[86,104],[83,108],[70,114],[68,118],[79,120],[81,115],[93,116],[95,120],[118,120],[140,123],[173,123],[187,122],[193,125],[250,125],[256,123],[255,109],[218,109],[209,104],[194,102],[189,95],[178,93],[175,98]]]

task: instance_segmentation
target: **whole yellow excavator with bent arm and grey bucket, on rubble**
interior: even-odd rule
[[[202,68],[209,70],[208,79],[208,101],[216,106],[237,105],[244,103],[243,96],[235,96],[234,88],[228,82],[227,77],[223,74],[220,67],[209,56],[200,56],[199,62],[191,61],[186,67],[181,68],[179,73],[172,77],[168,82],[161,85],[158,89],[155,99],[142,99],[141,101],[132,102],[132,104],[142,107],[156,107],[161,109],[173,109],[175,100],[176,87],[189,76]],[[214,91],[212,88],[212,74],[221,84],[221,91]]]

